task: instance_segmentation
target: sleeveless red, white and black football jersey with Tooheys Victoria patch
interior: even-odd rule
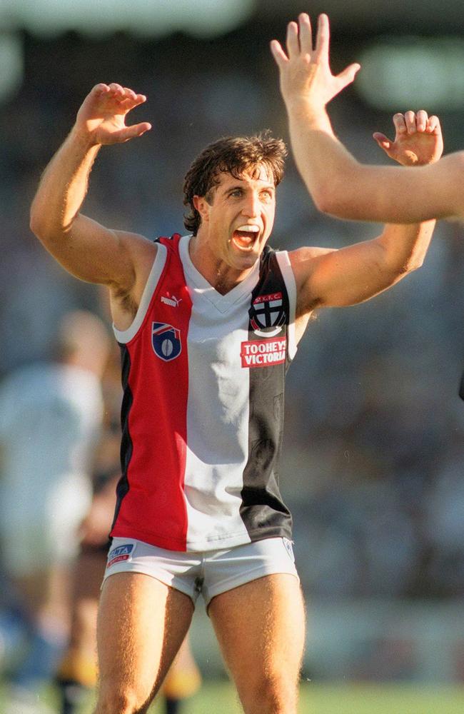
[[[284,378],[296,353],[288,254],[266,247],[218,293],[159,238],[136,318],[115,328],[123,369],[123,475],[113,536],[169,550],[291,538],[278,488]]]

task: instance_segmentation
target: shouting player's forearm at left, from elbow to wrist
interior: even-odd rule
[[[71,230],[99,148],[73,129],[46,167],[31,206],[31,230],[41,241],[62,240]]]

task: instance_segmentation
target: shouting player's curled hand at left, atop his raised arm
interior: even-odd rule
[[[151,124],[126,126],[126,115],[144,101],[146,96],[119,84],[97,84],[79,109],[75,129],[92,144],[121,144],[141,136]]]

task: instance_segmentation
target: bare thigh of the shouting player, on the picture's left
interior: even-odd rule
[[[98,714],[143,713],[191,623],[187,595],[143,573],[116,573],[101,593]]]

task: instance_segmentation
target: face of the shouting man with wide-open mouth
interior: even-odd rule
[[[198,236],[208,241],[216,258],[243,271],[253,267],[268,240],[276,212],[276,187],[266,166],[241,178],[219,174],[208,202],[198,197],[201,213]]]

